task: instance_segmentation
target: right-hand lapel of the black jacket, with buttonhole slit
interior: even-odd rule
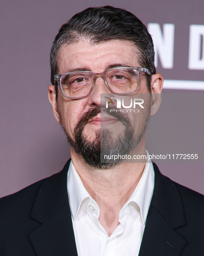
[[[154,165],[155,186],[139,256],[178,256],[186,241],[176,231],[185,225],[181,197],[172,180]]]

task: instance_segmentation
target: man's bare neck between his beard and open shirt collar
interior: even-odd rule
[[[118,195],[127,193],[127,191],[130,191],[129,193],[133,192],[145,167],[145,163],[126,162],[108,169],[96,169],[88,166],[80,156],[71,155],[71,160],[82,183],[95,201],[97,201],[96,197],[112,198],[116,196],[117,198]],[[127,193],[127,196],[129,193]]]

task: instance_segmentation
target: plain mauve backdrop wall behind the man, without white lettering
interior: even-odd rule
[[[145,25],[159,23],[162,27],[164,23],[175,24],[174,68],[163,69],[158,62],[157,71],[162,72],[165,79],[204,80],[203,70],[188,70],[186,54],[190,24],[204,24],[203,0],[1,0],[0,197],[58,172],[70,157],[69,146],[55,121],[47,97],[50,48],[62,23],[87,7],[103,5],[125,8]],[[185,108],[180,115],[191,120]],[[168,124],[174,123],[175,118],[179,122],[179,117],[166,116]],[[202,150],[202,109],[195,122],[200,130],[197,134],[192,131],[192,136],[200,138],[198,143]],[[168,124],[163,129],[167,134]],[[150,124],[147,145],[150,151],[154,149],[155,138],[159,140],[157,126],[155,121]],[[159,163],[158,166],[163,174],[204,194],[203,162],[201,155],[200,161],[193,164]]]

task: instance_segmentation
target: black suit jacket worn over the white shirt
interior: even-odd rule
[[[67,195],[69,163],[60,173],[1,198],[0,255],[77,256]],[[155,164],[154,171],[139,256],[203,256],[204,196],[163,176]]]

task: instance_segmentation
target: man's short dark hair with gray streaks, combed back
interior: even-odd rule
[[[132,42],[139,50],[139,64],[148,68],[152,74],[156,73],[153,41],[145,25],[124,9],[112,6],[94,7],[74,15],[59,29],[50,53],[52,85],[55,85],[54,75],[58,73],[59,48],[63,44],[76,43],[81,38],[89,39],[93,44],[111,39]],[[149,91],[150,82],[151,76],[147,75]]]

